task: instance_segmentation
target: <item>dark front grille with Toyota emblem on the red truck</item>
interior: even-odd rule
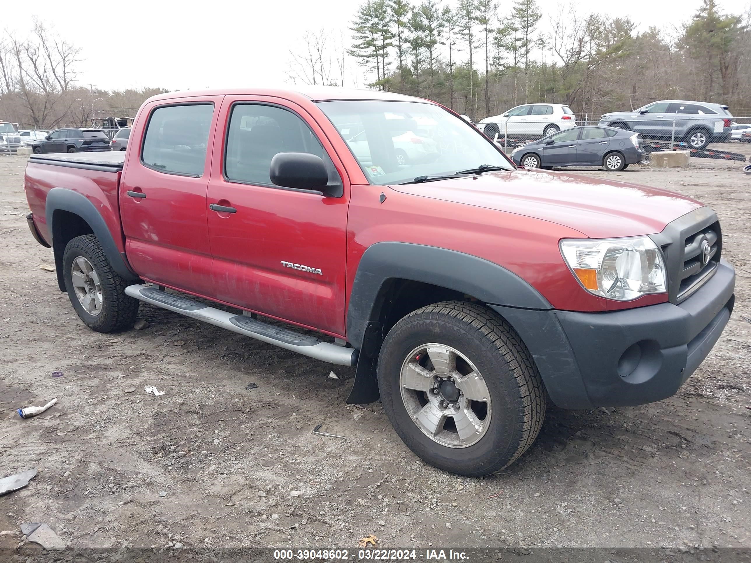
[[[683,242],[683,261],[677,272],[680,280],[678,301],[689,297],[710,278],[719,263],[721,248],[719,222],[686,236]]]

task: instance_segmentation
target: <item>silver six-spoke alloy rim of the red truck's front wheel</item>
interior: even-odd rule
[[[428,438],[448,447],[468,447],[490,426],[490,392],[464,354],[443,344],[418,346],[399,378],[409,417]]]

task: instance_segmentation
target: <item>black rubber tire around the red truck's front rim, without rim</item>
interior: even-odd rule
[[[407,355],[427,342],[456,348],[483,374],[492,416],[487,432],[472,445],[441,445],[409,416],[400,370]],[[456,474],[478,477],[511,465],[535,441],[544,419],[545,391],[531,354],[503,318],[475,303],[436,303],[398,321],[382,345],[378,381],[384,410],[407,447]]]

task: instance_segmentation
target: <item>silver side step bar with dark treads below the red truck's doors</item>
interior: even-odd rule
[[[252,339],[261,340],[261,342],[267,342],[316,360],[335,363],[338,366],[357,365],[357,350],[354,348],[345,348],[344,346],[323,342],[315,336],[306,336],[284,328],[274,327],[255,318],[246,317],[246,315],[234,315],[234,313],[215,309],[203,303],[196,303],[184,297],[168,294],[166,291],[161,291],[150,285],[128,285],[125,288],[125,294],[162,309],[213,324],[215,327],[231,330],[234,333],[250,336]]]

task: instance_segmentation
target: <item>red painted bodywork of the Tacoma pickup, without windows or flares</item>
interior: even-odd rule
[[[343,93],[339,98],[362,95]],[[400,96],[373,92],[372,98]],[[315,91],[281,90],[150,98],[135,119],[122,173],[29,164],[26,186],[36,224],[50,242],[47,191],[56,186],[77,191],[101,210],[119,251],[141,278],[342,339],[360,258],[376,242],[439,246],[484,258],[519,275],[556,309],[597,312],[668,300],[666,294],[651,294],[623,303],[584,291],[563,262],[558,242],[659,233],[701,203],[659,189],[538,170],[369,185],[315,99]],[[164,104],[196,101],[215,106],[203,176],[176,176],[143,166],[140,146],[149,113]],[[304,119],[342,178],[342,197],[225,179],[225,131],[232,105],[241,101],[276,104]],[[148,197],[129,197],[128,191]],[[239,212],[213,212],[208,209],[212,203]],[[312,265],[321,275],[301,276],[280,263],[303,263],[306,256],[314,257]]]

